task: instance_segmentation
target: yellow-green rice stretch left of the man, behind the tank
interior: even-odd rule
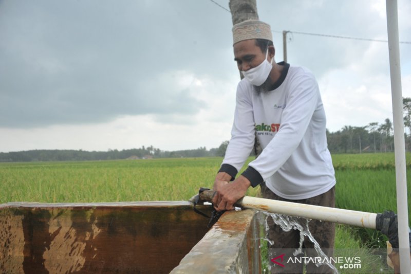
[[[220,158],[2,163],[0,203],[186,200],[213,186]]]

